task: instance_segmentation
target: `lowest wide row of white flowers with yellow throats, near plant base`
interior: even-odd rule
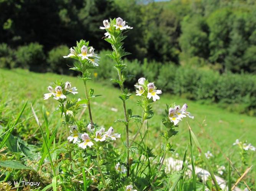
[[[78,146],[81,147],[82,149],[86,149],[86,147],[92,147],[95,142],[103,142],[106,141],[107,138],[110,138],[111,140],[116,140],[116,138],[120,138],[121,134],[114,133],[114,129],[110,127],[106,132],[105,128],[101,128],[100,130],[95,132],[95,135],[93,135],[95,128],[91,128],[91,123],[87,126],[86,131],[91,134],[91,138],[88,133],[79,133],[78,127],[76,125],[69,126],[70,132],[72,133],[68,137],[68,141],[73,143],[79,142]],[[83,141],[83,142],[81,142]],[[81,143],[80,143],[81,142]]]

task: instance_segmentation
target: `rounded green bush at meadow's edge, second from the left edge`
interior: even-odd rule
[[[18,47],[15,57],[17,65],[21,68],[29,69],[30,71],[45,71],[43,45],[37,42]]]

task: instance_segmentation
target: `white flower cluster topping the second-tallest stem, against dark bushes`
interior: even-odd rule
[[[70,48],[70,53],[67,56],[63,56],[63,58],[74,58],[80,61],[85,60],[89,63],[92,63],[93,66],[99,66],[100,57],[96,53],[94,53],[93,47],[88,47],[86,45],[83,45],[80,49],[78,47]],[[79,50],[76,51],[77,49]]]

